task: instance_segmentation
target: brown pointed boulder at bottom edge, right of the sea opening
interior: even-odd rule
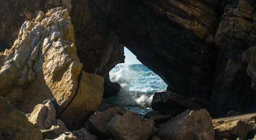
[[[215,140],[212,118],[206,109],[187,110],[156,132],[161,140]]]

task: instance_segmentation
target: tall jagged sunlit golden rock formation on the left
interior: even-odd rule
[[[102,102],[104,79],[82,72],[74,43],[68,10],[54,8],[26,21],[12,49],[1,54],[0,95],[26,113],[36,106],[30,121],[40,129],[50,129],[55,118],[62,119],[70,130],[78,129]],[[56,101],[50,106],[40,104],[51,98]],[[49,115],[55,109],[56,115]],[[47,126],[46,114],[52,117]]]

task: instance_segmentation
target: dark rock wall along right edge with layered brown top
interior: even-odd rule
[[[242,62],[244,51],[256,43],[255,1],[236,0],[226,6],[214,42],[220,48],[211,101],[225,112],[254,112],[255,91]]]

